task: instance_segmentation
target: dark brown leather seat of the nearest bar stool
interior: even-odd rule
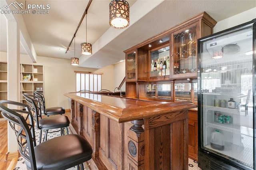
[[[90,144],[81,136],[68,134],[34,147],[37,169],[67,169],[92,158]],[[28,168],[31,164],[25,161]]]

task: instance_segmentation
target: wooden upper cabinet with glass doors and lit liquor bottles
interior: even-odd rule
[[[212,34],[216,23],[202,12],[127,49],[126,82],[197,79],[197,39]],[[158,66],[164,59],[165,68],[154,69],[152,61]]]

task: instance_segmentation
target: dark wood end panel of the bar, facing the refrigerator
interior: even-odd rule
[[[145,119],[145,169],[188,170],[187,113]]]

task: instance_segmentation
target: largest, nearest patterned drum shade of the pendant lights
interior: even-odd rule
[[[130,24],[129,4],[126,0],[112,0],[109,4],[109,24],[116,29],[126,28]]]

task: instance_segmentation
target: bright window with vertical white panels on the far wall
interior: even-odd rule
[[[101,77],[102,73],[76,72],[76,91],[100,91]]]

